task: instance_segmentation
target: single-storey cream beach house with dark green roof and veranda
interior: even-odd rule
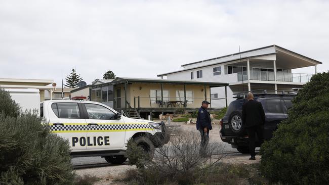
[[[225,88],[227,85],[219,82],[117,77],[110,82],[74,89],[71,94],[89,96],[90,101],[103,103],[130,117],[146,117],[150,113],[172,113],[177,108],[194,112],[203,100],[211,102],[211,88]],[[89,95],[85,94],[87,89]],[[225,99],[225,92],[223,97]],[[210,107],[209,110],[219,109]]]

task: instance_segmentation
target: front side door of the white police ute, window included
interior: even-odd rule
[[[125,122],[105,105],[83,103],[88,124],[87,150],[121,149],[125,145]]]

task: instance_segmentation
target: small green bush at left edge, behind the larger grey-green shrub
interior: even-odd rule
[[[5,117],[17,117],[20,114],[18,104],[11,99],[9,92],[2,88],[0,88],[0,102],[0,113]]]

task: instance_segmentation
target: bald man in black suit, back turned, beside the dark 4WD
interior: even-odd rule
[[[260,102],[254,101],[254,95],[248,92],[247,102],[242,106],[242,123],[249,136],[250,160],[255,158],[255,134],[260,142],[263,142],[263,126],[265,123],[265,113]]]

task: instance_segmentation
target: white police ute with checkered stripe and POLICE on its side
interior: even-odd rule
[[[127,160],[130,138],[152,158],[154,148],[170,137],[163,122],[128,118],[98,102],[44,101],[40,116],[52,132],[69,141],[73,157],[101,156],[112,164]]]

